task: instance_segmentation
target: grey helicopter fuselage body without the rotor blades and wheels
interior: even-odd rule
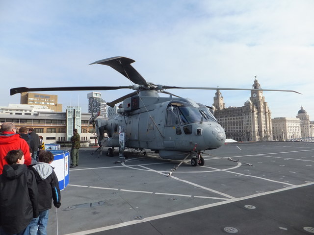
[[[158,150],[164,159],[179,160],[189,152],[219,148],[226,139],[206,106],[160,97],[157,91],[140,91],[127,98],[114,118],[96,121],[96,126],[107,133],[107,147],[119,146],[120,130],[125,133],[125,147]]]

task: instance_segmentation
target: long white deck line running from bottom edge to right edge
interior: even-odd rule
[[[259,197],[259,196],[262,196],[262,195],[268,195],[268,194],[272,194],[272,193],[276,193],[276,192],[286,191],[286,190],[290,190],[290,189],[293,189],[293,188],[301,188],[301,187],[309,186],[309,185],[313,185],[313,184],[314,184],[314,182],[303,184],[303,185],[298,185],[298,186],[294,186],[294,187],[289,187],[289,188],[281,188],[281,189],[277,189],[277,190],[274,190],[274,191],[268,191],[268,192],[264,192],[264,193],[257,193],[257,194],[253,194],[253,195],[250,195],[250,196],[230,199],[230,200],[227,200],[227,201],[212,203],[212,204],[199,206],[199,207],[194,207],[194,208],[189,208],[189,209],[185,209],[185,210],[181,210],[181,211],[174,211],[174,212],[170,212],[170,213],[159,214],[159,215],[143,218],[142,220],[131,220],[131,221],[127,221],[127,222],[123,222],[123,223],[119,223],[119,224],[113,224],[113,225],[109,225],[109,226],[105,226],[105,227],[101,227],[101,228],[96,228],[96,229],[91,229],[91,230],[86,230],[86,231],[80,231],[80,232],[77,232],[77,233],[71,233],[71,234],[66,234],[66,235],[87,235],[87,234],[92,234],[92,233],[99,233],[99,232],[103,232],[103,231],[106,231],[106,230],[109,230],[109,229],[116,229],[116,228],[121,228],[121,227],[129,226],[129,225],[145,223],[145,222],[149,222],[149,221],[156,220],[156,219],[161,219],[161,218],[166,218],[166,217],[173,216],[173,215],[183,214],[183,213],[187,213],[187,212],[191,212],[191,211],[199,211],[199,210],[202,210],[202,209],[207,209],[207,208],[211,208],[211,207],[215,207],[215,206],[220,206],[220,205],[224,205],[224,204],[228,204],[228,203],[232,203],[232,202],[238,202],[238,201],[242,201],[242,200],[245,200],[245,199]]]

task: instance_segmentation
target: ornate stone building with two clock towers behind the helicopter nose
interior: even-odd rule
[[[255,79],[252,89],[261,89]],[[262,91],[251,91],[242,107],[225,108],[223,96],[217,90],[214,116],[226,130],[226,137],[236,141],[272,141],[271,113]]]

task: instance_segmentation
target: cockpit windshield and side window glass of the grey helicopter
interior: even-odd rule
[[[168,107],[171,107],[171,113],[169,113],[168,116],[171,114],[177,114],[178,111],[181,125],[185,125],[191,122],[218,122],[217,119],[214,118],[214,116],[209,112],[209,109],[205,105],[198,105],[200,106],[199,108],[182,101],[171,102],[168,105]],[[175,110],[176,112],[174,112]],[[170,117],[167,117],[167,120],[170,120]]]

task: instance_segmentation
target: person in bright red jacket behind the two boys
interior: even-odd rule
[[[4,157],[11,150],[21,149],[24,153],[26,165],[31,164],[31,157],[29,154],[29,146],[19,134],[15,132],[16,128],[12,122],[4,122],[1,125],[0,134],[0,174],[2,174],[3,165],[7,164]]]

